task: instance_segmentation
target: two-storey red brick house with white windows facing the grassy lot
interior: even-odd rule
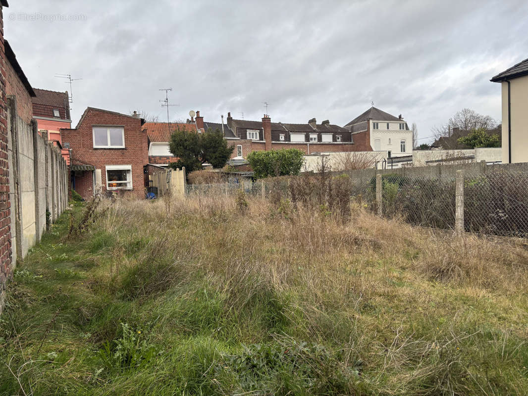
[[[71,187],[87,199],[99,189],[145,197],[148,163],[144,120],[88,107],[74,129],[61,129],[71,150]]]

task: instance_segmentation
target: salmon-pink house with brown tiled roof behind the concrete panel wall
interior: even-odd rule
[[[62,147],[62,128],[71,128],[70,100],[68,91],[56,92],[35,88],[32,98],[33,118],[41,136],[46,136],[55,146],[61,148],[62,157],[70,165],[70,152]]]

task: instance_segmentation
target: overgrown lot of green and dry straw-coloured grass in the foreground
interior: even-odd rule
[[[8,285],[0,394],[528,394],[521,244],[248,201],[63,215]]]

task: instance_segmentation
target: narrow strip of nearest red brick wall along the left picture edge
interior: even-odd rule
[[[11,276],[11,206],[9,202],[9,167],[7,162],[6,59],[4,51],[4,18],[0,5],[0,312],[7,278]]]

